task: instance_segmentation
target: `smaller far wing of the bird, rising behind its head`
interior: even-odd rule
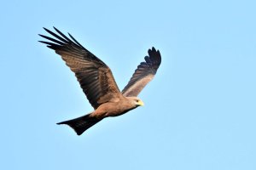
[[[161,55],[159,50],[156,51],[153,47],[148,49],[148,56],[144,58],[146,62],[142,62],[137,66],[137,70],[133,73],[131,80],[123,89],[122,94],[124,96],[137,96],[148,82],[154,78],[161,63]]]

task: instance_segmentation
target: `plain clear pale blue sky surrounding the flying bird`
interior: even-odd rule
[[[256,169],[255,1],[3,1],[0,169]],[[148,48],[144,106],[81,136],[92,107],[43,27],[71,33],[122,89]]]

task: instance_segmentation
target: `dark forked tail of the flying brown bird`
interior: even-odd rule
[[[90,116],[90,114],[85,116],[80,116],[78,118],[64,121],[64,122],[58,122],[58,125],[66,124],[69,127],[72,127],[73,130],[78,134],[81,135],[84,133],[85,130],[95,125],[97,122],[100,122],[102,119],[97,119],[96,117]]]

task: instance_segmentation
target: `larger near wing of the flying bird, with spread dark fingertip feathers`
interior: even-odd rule
[[[55,38],[39,35],[50,41],[39,42],[46,43],[47,47],[54,49],[56,54],[61,55],[67,66],[75,73],[84,94],[94,109],[102,103],[119,99],[121,94],[108,65],[91,54],[70,34],[68,35],[71,39],[56,28],[55,31],[59,35],[46,28],[44,30]]]

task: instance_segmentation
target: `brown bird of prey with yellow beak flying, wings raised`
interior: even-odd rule
[[[67,124],[80,135],[108,116],[120,116],[143,105],[143,101],[137,98],[137,95],[154,78],[160,66],[159,50],[156,51],[154,47],[148,49],[145,61],[137,66],[130,82],[120,92],[108,65],[91,54],[69,33],[67,37],[55,27],[54,29],[56,33],[44,28],[55,38],[39,34],[49,40],[39,42],[47,44],[48,48],[61,55],[66,65],[75,73],[84,94],[94,108],[94,111],[87,115],[57,124]]]

